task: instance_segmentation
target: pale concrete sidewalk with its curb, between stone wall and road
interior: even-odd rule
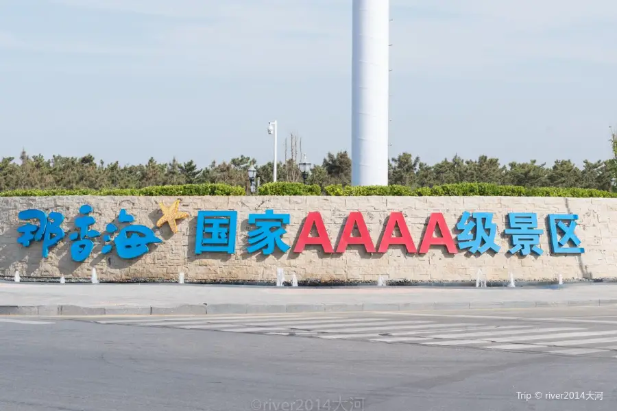
[[[524,288],[276,288],[0,282],[0,314],[245,314],[617,305],[617,284]]]

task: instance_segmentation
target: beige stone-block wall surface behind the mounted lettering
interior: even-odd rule
[[[472,280],[478,269],[488,279],[507,279],[511,272],[517,279],[555,279],[559,273],[564,279],[616,277],[617,262],[617,201],[614,199],[561,199],[524,197],[183,197],[180,210],[190,217],[179,221],[179,231],[172,234],[167,225],[157,229],[160,218],[158,202],[168,206],[172,197],[33,197],[0,198],[0,275],[12,275],[19,270],[22,276],[36,277],[89,277],[96,266],[101,280],[130,278],[177,279],[178,273],[186,273],[186,279],[245,279],[271,281],[276,278],[276,268],[284,267],[287,274],[295,273],[302,279],[375,280],[378,275],[385,279],[408,279],[412,281]],[[94,229],[104,232],[106,224],[117,218],[121,208],[135,216],[135,223],[154,227],[157,236],[164,242],[151,247],[151,251],[136,260],[121,260],[115,250],[104,256],[102,245],[95,246],[86,262],[71,260],[71,241],[68,234],[60,244],[51,249],[49,258],[41,256],[40,242],[25,248],[16,242],[17,227],[23,224],[17,214],[28,208],[62,212],[65,231],[73,229],[75,217],[83,204],[93,206],[97,220]],[[375,244],[385,227],[390,212],[403,212],[416,247],[420,247],[422,233],[428,216],[433,212],[444,214],[456,236],[455,229],[462,212],[494,212],[498,226],[499,253],[470,256],[460,252],[451,256],[444,247],[435,247],[425,255],[407,254],[402,247],[392,247],[385,254],[367,255],[356,246],[350,246],[343,254],[324,255],[319,247],[308,247],[302,254],[246,252],[247,231],[250,227],[247,216],[250,212],[267,209],[291,214],[285,242],[294,245],[306,214],[322,213],[328,234],[336,247],[346,217],[350,211],[363,212]],[[195,228],[199,210],[237,210],[239,212],[237,247],[234,255],[202,254],[195,256]],[[537,212],[539,225],[544,229],[540,247],[544,255],[522,258],[509,256],[509,236],[503,234],[508,212]],[[554,256],[549,248],[546,216],[550,213],[579,214],[576,233],[582,241],[585,253],[582,256]]]

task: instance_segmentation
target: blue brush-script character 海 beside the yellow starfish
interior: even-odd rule
[[[120,210],[118,221],[120,223],[132,223],[135,219],[123,209]],[[104,240],[106,242],[110,242],[110,234],[114,234],[117,231],[117,225],[114,223],[108,224],[107,232],[109,234],[104,236]],[[131,260],[132,258],[137,258],[147,253],[149,251],[148,245],[162,242],[162,240],[157,238],[152,229],[146,227],[145,225],[127,225],[118,232],[117,236],[114,237],[113,242],[116,246],[118,256],[125,260]],[[107,244],[103,247],[102,252],[104,254],[110,253],[110,251],[112,251],[112,245]]]

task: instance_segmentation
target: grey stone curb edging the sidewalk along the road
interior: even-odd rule
[[[195,304],[176,307],[82,307],[0,306],[0,315],[21,316],[101,316],[101,315],[204,315],[204,314],[283,314],[299,312],[446,311],[489,308],[555,308],[617,306],[617,299],[569,301],[488,301],[435,303],[322,303],[322,304]]]

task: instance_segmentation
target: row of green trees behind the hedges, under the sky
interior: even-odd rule
[[[480,155],[476,160],[464,160],[455,155],[437,164],[426,164],[412,153],[401,153],[389,161],[389,184],[410,188],[440,186],[455,183],[491,183],[499,185],[557,188],[595,188],[613,191],[617,188],[617,134],[612,132],[612,152],[608,160],[585,161],[579,167],[570,160],[555,160],[553,164],[510,162],[501,164],[498,158]],[[285,156],[278,164],[278,181],[302,182],[298,155]],[[190,160],[180,163],[176,158],[159,163],[150,158],[146,164],[105,164],[93,155],[82,158],[53,155],[28,155],[19,159],[0,160],[0,191],[19,189],[143,188],[176,184],[226,183],[248,187],[247,170],[254,165],[260,184],[272,181],[272,162],[257,164],[254,158],[239,155],[228,162],[213,161],[199,169]],[[351,180],[351,158],[347,151],[328,153],[321,164],[315,164],[308,184],[322,188],[332,184],[346,186]]]

